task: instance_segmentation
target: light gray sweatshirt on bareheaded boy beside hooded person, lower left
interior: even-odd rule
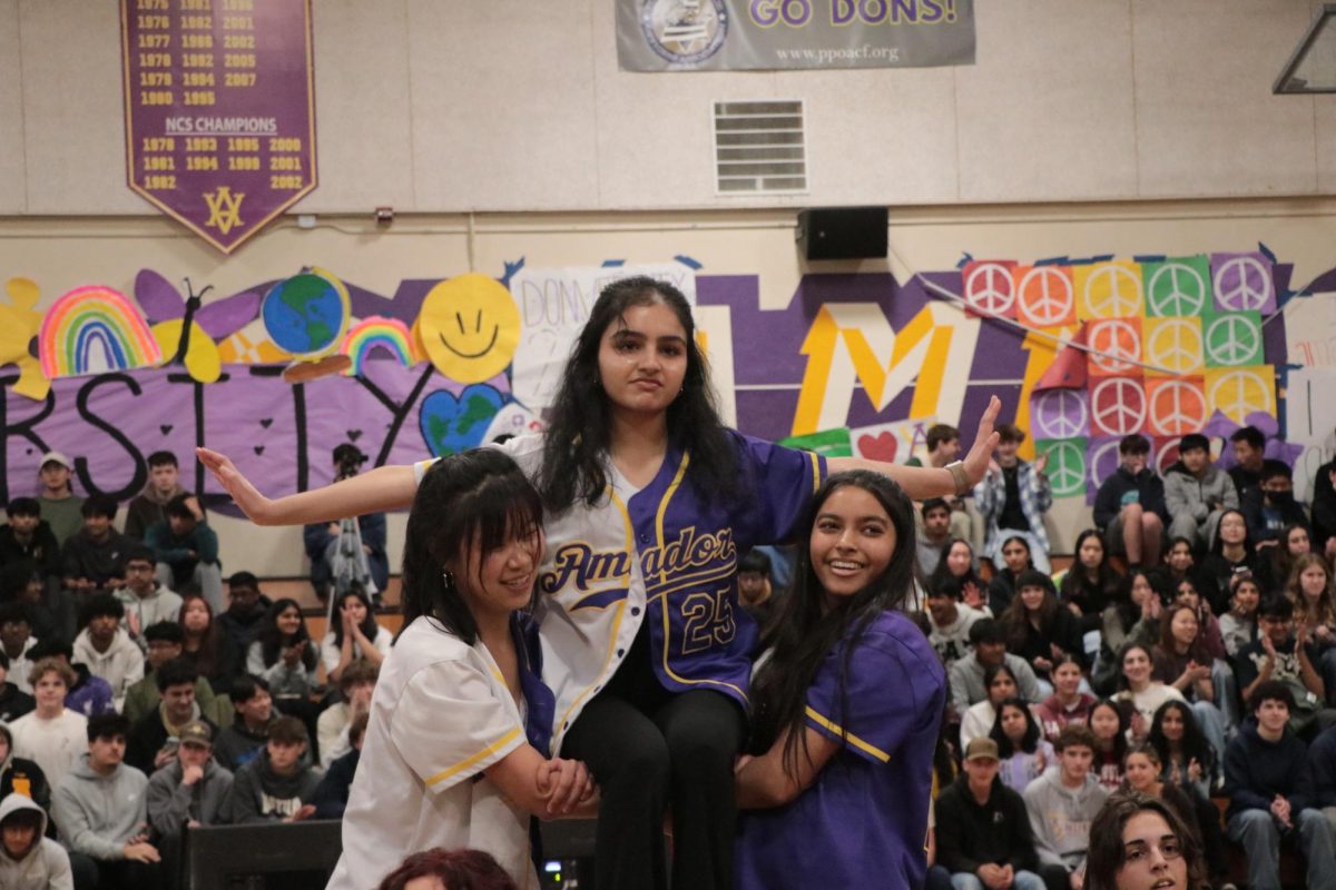
[[[94,859],[126,858],[126,843],[144,833],[148,822],[148,779],[132,766],[111,775],[88,766],[84,754],[52,795],[51,818],[65,847]]]

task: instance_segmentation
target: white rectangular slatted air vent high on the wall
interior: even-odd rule
[[[716,101],[715,173],[721,195],[806,192],[802,100]]]

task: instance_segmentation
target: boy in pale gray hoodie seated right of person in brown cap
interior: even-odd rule
[[[1049,770],[1025,789],[1039,875],[1049,890],[1075,887],[1085,871],[1090,822],[1109,793],[1090,773],[1094,735],[1079,723],[1058,733],[1058,769]]]

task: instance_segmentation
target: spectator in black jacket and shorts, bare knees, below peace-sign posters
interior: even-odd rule
[[[1146,466],[1149,456],[1149,439],[1124,436],[1118,443],[1121,463],[1094,498],[1094,524],[1104,528],[1109,551],[1126,554],[1130,566],[1160,564],[1160,542],[1169,522],[1164,482]]]

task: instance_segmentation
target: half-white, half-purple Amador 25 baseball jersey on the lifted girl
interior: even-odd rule
[[[703,499],[687,479],[691,455],[669,448],[644,488],[609,462],[604,500],[546,516],[536,616],[542,679],[557,698],[552,753],[616,673],[644,622],[665,689],[712,689],[745,707],[756,626],[737,604],[737,554],[792,536],[826,478],[826,460],[731,435],[748,491],[736,503]],[[501,447],[530,479],[536,475],[540,436]],[[418,464],[420,478],[428,463]]]

